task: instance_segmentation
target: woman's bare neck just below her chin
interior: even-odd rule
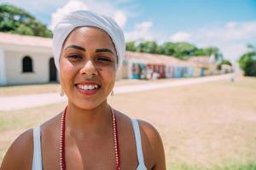
[[[112,124],[111,110],[107,100],[94,109],[82,109],[68,102],[66,115],[67,128],[76,132],[102,132]]]

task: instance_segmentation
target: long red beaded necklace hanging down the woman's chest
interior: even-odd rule
[[[115,113],[110,107],[112,113],[112,123],[113,123],[113,141],[114,141],[114,154],[115,154],[115,163],[116,163],[116,170],[119,170],[119,139],[118,139],[118,131],[117,131],[117,123],[116,123],[116,116]],[[60,167],[61,170],[66,170],[66,161],[65,161],[65,129],[66,129],[66,113],[67,107],[65,111],[63,111],[61,116],[61,139],[60,139]]]

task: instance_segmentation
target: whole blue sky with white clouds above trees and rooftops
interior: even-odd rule
[[[0,0],[24,8],[50,29],[61,15],[88,9],[116,20],[126,41],[215,46],[236,61],[256,46],[256,0]]]

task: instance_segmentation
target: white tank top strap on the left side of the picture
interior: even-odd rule
[[[40,127],[33,128],[33,163],[32,170],[42,170],[42,156],[41,156],[41,134]]]

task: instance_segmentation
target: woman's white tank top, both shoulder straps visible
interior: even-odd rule
[[[143,147],[142,147],[142,139],[141,139],[139,124],[137,122],[137,119],[131,119],[131,122],[132,122],[132,127],[135,135],[135,140],[136,140],[137,160],[138,160],[137,170],[147,170],[144,164]],[[33,128],[34,151],[33,151],[32,170],[43,169],[40,137],[41,137],[40,127],[34,127]]]

